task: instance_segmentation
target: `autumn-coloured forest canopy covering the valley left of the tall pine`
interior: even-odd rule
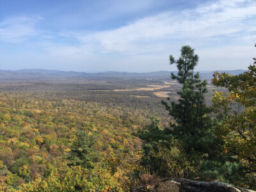
[[[150,96],[149,92],[109,91],[106,94],[103,89],[134,86],[134,83],[108,81],[1,84],[2,190],[40,191],[42,185],[45,190],[46,185],[49,190],[54,187],[56,191],[71,190],[77,185],[99,191],[120,190],[136,182],[130,176],[134,170],[143,170],[137,162],[141,156],[141,140],[136,132],[149,123],[154,113],[167,120],[166,111],[160,105],[160,98],[129,96]],[[92,140],[92,145],[81,143],[80,146],[76,143],[80,140]],[[79,166],[76,162],[71,163],[75,146],[84,147],[86,156],[93,154],[88,160],[90,168],[83,163]],[[86,148],[90,148],[89,154]],[[81,172],[78,173],[77,168],[82,169]],[[70,179],[69,186],[67,181],[60,180],[61,177],[55,184],[49,184],[52,177],[57,179],[60,169],[67,171],[61,173],[61,177]]]

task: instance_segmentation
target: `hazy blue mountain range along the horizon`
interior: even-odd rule
[[[219,72],[227,72],[228,74],[241,74],[246,70],[220,70]],[[174,72],[177,74],[177,72]],[[201,79],[212,79],[213,71],[200,72]],[[60,78],[138,78],[138,79],[170,79],[170,71],[157,71],[157,72],[99,72],[99,73],[85,73],[74,71],[61,71],[61,70],[46,70],[46,69],[22,69],[22,70],[0,70],[0,79],[8,80],[29,80],[29,79],[60,79]]]

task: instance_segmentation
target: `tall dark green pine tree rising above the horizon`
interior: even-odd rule
[[[202,180],[220,179],[223,182],[234,182],[238,177],[239,164],[228,156],[223,156],[223,141],[214,135],[214,121],[211,108],[205,105],[204,95],[207,93],[207,81],[201,81],[199,73],[195,73],[198,55],[194,49],[182,46],[179,60],[170,56],[170,64],[176,64],[177,75],[172,79],[182,84],[179,102],[162,101],[175,123],[171,125],[170,134],[182,143],[186,158],[196,172],[190,177]],[[170,100],[170,99],[169,99]],[[230,163],[232,161],[232,163]]]

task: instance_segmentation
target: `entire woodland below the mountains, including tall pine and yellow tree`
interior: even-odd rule
[[[3,80],[0,191],[129,191],[173,177],[256,189],[255,64],[237,76],[216,72],[209,84],[194,72],[194,50],[180,51],[170,56],[179,70],[170,87],[143,78]]]

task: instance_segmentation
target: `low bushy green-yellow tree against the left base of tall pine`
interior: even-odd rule
[[[139,132],[144,141],[141,165],[163,177],[186,177],[192,169],[184,148],[175,140],[168,129],[161,130],[159,118]]]

